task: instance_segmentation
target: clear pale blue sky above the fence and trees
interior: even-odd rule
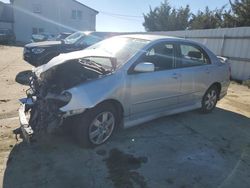
[[[9,0],[2,0],[9,2]],[[149,6],[155,8],[164,0],[78,0],[79,2],[99,11],[96,17],[97,31],[145,31],[142,23],[143,13],[149,12]],[[229,0],[169,0],[171,6],[178,8],[190,5],[191,11],[196,13],[204,10],[221,8]]]

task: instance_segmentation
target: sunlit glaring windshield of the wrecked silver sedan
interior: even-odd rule
[[[148,43],[149,41],[143,39],[113,37],[87,49],[97,49],[109,53],[110,56],[116,58],[117,67],[120,67]]]

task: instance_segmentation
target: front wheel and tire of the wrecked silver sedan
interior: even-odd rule
[[[117,126],[118,114],[109,103],[100,104],[79,117],[75,136],[83,147],[95,147],[105,143]]]

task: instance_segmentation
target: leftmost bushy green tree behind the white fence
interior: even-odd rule
[[[173,31],[184,30],[188,27],[190,18],[190,8],[172,8],[165,0],[159,7],[152,9],[149,7],[149,13],[143,14],[146,31]]]

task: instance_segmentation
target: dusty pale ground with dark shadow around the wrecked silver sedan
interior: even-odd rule
[[[0,186],[40,187],[250,187],[250,89],[232,83],[211,114],[164,117],[117,132],[95,149],[66,135],[27,146],[18,99],[31,66],[22,48],[0,46]]]

